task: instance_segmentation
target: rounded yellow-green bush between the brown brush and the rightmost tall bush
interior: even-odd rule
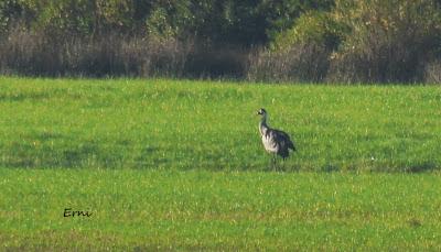
[[[269,50],[250,55],[248,79],[323,81],[329,57],[340,43],[340,28],[326,12],[306,12],[295,25],[276,35]]]

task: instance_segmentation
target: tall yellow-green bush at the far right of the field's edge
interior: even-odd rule
[[[440,46],[440,13],[434,0],[336,0],[333,17],[348,32],[329,79],[422,81],[424,64]]]

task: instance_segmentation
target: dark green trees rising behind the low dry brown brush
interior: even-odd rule
[[[0,28],[7,29],[14,19],[54,36],[117,31],[165,39],[190,34],[216,43],[250,45],[266,43],[288,29],[300,13],[331,4],[330,0],[4,0],[0,3]]]

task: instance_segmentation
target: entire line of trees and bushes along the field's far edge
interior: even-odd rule
[[[440,0],[2,0],[0,70],[440,83]]]

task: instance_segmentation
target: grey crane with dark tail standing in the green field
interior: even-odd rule
[[[259,122],[259,133],[263,143],[263,147],[268,153],[272,154],[272,164],[276,166],[276,155],[281,156],[284,161],[289,157],[289,151],[291,150],[294,152],[297,149],[286,132],[268,127],[268,113],[263,108],[259,109],[257,114],[261,116]]]

